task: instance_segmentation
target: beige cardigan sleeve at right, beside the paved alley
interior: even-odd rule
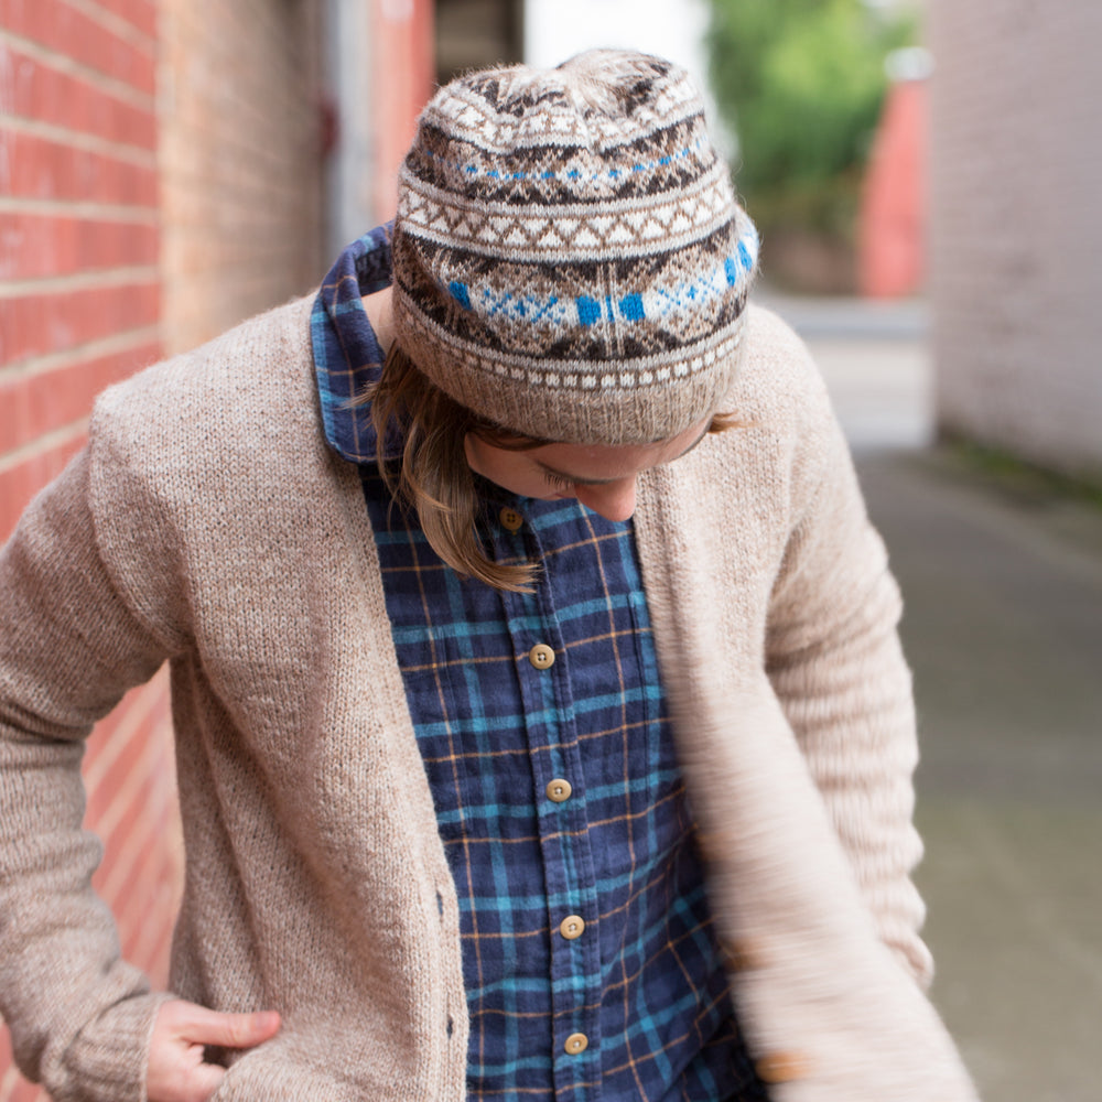
[[[795,523],[769,606],[767,672],[879,936],[925,987],[932,962],[910,879],[922,847],[912,823],[918,749],[897,634],[901,601],[824,391],[807,415],[804,455],[793,462]]]

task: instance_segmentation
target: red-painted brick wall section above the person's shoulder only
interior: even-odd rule
[[[155,9],[0,0],[0,533],[160,352]]]

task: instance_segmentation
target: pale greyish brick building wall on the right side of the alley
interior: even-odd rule
[[[1102,4],[931,4],[947,430],[1102,480]]]

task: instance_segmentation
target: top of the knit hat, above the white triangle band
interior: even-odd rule
[[[591,51],[555,69],[509,66],[445,86],[404,172],[480,203],[593,204],[684,186],[717,160],[683,69]]]

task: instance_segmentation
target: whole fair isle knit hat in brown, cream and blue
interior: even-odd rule
[[[510,431],[669,439],[722,406],[756,261],[683,69],[601,50],[473,73],[402,165],[397,338]]]

